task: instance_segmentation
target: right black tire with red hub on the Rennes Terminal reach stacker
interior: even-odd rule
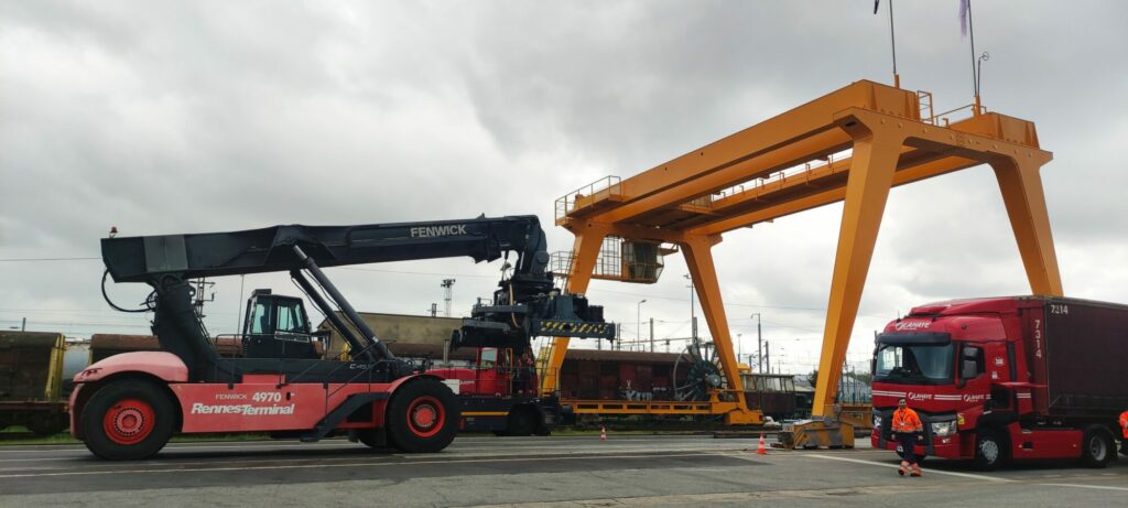
[[[384,424],[388,444],[405,453],[441,452],[458,433],[461,409],[455,393],[437,379],[407,382],[388,402]]]

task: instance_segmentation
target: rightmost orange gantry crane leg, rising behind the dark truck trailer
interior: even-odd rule
[[[998,187],[1003,192],[1006,213],[1011,218],[1019,254],[1034,295],[1063,296],[1061,273],[1050,234],[1050,218],[1042,193],[1041,166],[1048,157],[1034,159],[1001,159],[992,163]]]

